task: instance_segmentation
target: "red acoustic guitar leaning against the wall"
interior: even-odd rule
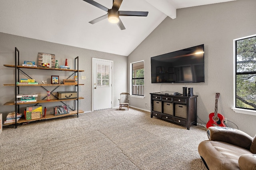
[[[206,123],[206,128],[211,126],[221,126],[226,127],[224,124],[224,116],[218,113],[218,98],[220,97],[220,93],[216,93],[215,96],[215,111],[214,113],[209,114],[209,121]]]

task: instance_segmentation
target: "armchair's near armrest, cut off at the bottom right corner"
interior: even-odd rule
[[[243,154],[238,159],[241,170],[253,170],[256,167],[256,154]]]

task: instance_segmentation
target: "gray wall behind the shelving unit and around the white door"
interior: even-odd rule
[[[114,101],[113,106],[118,107],[121,92],[127,91],[127,57],[114,55],[110,53],[103,53],[99,51],[92,51],[88,49],[82,49],[77,47],[71,47],[67,45],[61,45],[57,43],[50,43],[46,41],[40,41],[36,39],[30,39],[26,37],[20,37],[16,35],[10,35],[6,33],[0,33],[0,112],[4,113],[3,119],[5,119],[8,111],[13,111],[14,106],[4,106],[5,102],[14,100],[14,86],[3,86],[3,84],[14,84],[14,68],[4,67],[4,64],[14,65],[14,48],[17,47],[20,51],[20,63],[26,61],[38,61],[38,52],[54,54],[59,65],[65,64],[65,59],[68,59],[68,64],[74,69],[74,58],[79,56],[79,70],[84,72],[79,73],[79,83],[84,84],[79,88],[79,96],[84,97],[79,102],[79,109],[83,111],[92,111],[92,58],[107,59],[114,61],[113,63],[113,89],[114,89]],[[31,70],[26,69],[25,72],[29,74],[36,81],[47,80],[50,84],[51,75],[59,76],[60,80],[66,79],[71,72],[62,71],[46,71],[46,70]],[[125,74],[124,74],[125,73]],[[86,76],[86,80],[82,80],[81,76]],[[21,76],[20,78],[26,78]],[[58,88],[57,91],[72,90],[71,87],[65,86]],[[47,89],[52,91],[53,87],[47,86]],[[46,92],[40,87],[22,87],[20,93],[38,93],[40,96],[44,96]],[[69,103],[68,103],[69,104]],[[47,106],[48,111],[53,110],[53,106],[61,105],[61,103],[48,103],[42,104]],[[70,103],[72,105],[72,102]]]

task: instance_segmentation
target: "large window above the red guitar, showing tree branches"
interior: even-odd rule
[[[256,35],[236,39],[235,107],[256,110]]]

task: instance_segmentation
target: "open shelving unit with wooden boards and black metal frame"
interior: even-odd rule
[[[13,123],[6,123],[5,125],[11,125],[11,124],[15,124],[15,128],[17,128],[17,124],[19,123],[26,123],[26,122],[31,122],[31,121],[38,121],[38,120],[44,120],[44,119],[53,119],[56,117],[64,117],[64,116],[68,116],[68,115],[74,115],[79,113],[84,113],[84,111],[79,110],[78,109],[78,101],[80,99],[84,99],[83,97],[79,97],[79,86],[80,85],[84,85],[84,84],[79,84],[79,78],[77,80],[76,84],[16,84],[16,82],[19,82],[19,77],[20,77],[20,71],[25,74],[26,76],[30,77],[28,74],[26,74],[23,70],[31,70],[31,69],[40,69],[40,70],[52,70],[52,71],[64,71],[64,72],[73,72],[70,76],[67,77],[70,78],[71,76],[78,76],[78,72],[84,72],[84,70],[79,70],[78,69],[78,57],[76,57],[74,59],[74,65],[75,65],[75,69],[61,69],[61,68],[45,68],[45,67],[30,67],[30,66],[20,66],[19,64],[20,61],[20,51],[15,47],[15,64],[14,65],[8,65],[8,64],[4,64],[4,66],[6,67],[10,67],[10,68],[15,68],[15,82],[14,84],[4,84],[4,86],[15,86],[15,100],[11,101],[11,102],[6,102],[4,105],[14,105],[15,106],[15,113],[20,111],[20,105],[25,105],[25,104],[35,104],[35,106],[39,103],[48,103],[48,102],[62,102],[62,104],[66,105],[64,103],[64,101],[70,101],[70,100],[74,100],[74,110],[72,109],[72,111],[69,111],[69,113],[67,114],[62,114],[62,115],[54,115],[54,114],[48,114],[46,115],[46,117],[42,117],[39,119],[32,119],[32,120],[26,120],[23,117],[20,118],[20,120],[15,120],[15,122]],[[32,79],[32,78],[31,78]],[[36,102],[28,102],[28,103],[17,103],[17,98],[16,96],[18,94],[20,94],[20,88],[24,87],[24,86],[40,86],[41,88],[43,88],[44,90],[48,91],[46,88],[44,88],[44,86],[56,86],[56,88],[54,88],[54,90],[56,90],[59,86],[74,86],[74,91],[77,92],[77,98],[75,99],[63,99],[63,100],[58,100],[56,99],[51,99],[51,100],[37,100]],[[54,91],[53,90],[53,91]],[[52,95],[54,96],[54,95]],[[56,96],[54,96],[56,97]],[[77,109],[76,109],[77,107]],[[70,107],[69,107],[70,108]],[[16,115],[15,115],[15,118]]]

